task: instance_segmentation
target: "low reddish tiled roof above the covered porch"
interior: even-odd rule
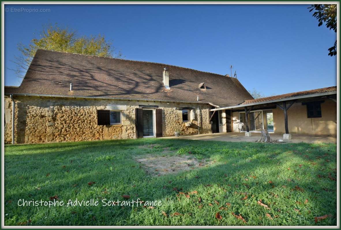
[[[253,100],[246,100],[243,103],[241,103],[241,105],[291,98],[294,96],[303,96],[303,95],[311,95],[311,94],[316,94],[316,93],[333,92],[333,91],[336,91],[336,86],[321,88],[321,89],[312,89],[312,90],[295,92],[295,93],[286,93],[286,94],[281,94],[281,95],[276,95],[276,96],[268,96],[267,98],[257,98]]]

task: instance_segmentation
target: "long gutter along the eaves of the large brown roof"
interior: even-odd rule
[[[9,93],[5,93],[9,95]],[[10,95],[17,96],[43,96],[51,98],[83,98],[83,99],[108,99],[108,100],[125,100],[125,101],[157,101],[157,102],[174,102],[174,103],[194,103],[194,104],[210,104],[209,102],[187,102],[187,101],[172,101],[172,100],[153,100],[153,99],[131,99],[131,98],[112,98],[108,96],[69,96],[69,95],[53,95],[53,94],[35,94],[35,93],[13,93]]]

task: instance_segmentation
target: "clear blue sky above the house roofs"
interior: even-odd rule
[[[264,95],[336,85],[336,57],[328,56],[336,33],[318,27],[308,5],[5,5],[11,7],[50,12],[5,13],[5,85],[21,82],[9,70],[17,43],[29,44],[49,22],[103,34],[125,59],[219,74],[233,65],[246,89]]]

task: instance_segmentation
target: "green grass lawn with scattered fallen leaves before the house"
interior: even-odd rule
[[[154,155],[186,156],[200,165],[158,176],[135,160]],[[336,144],[138,139],[8,145],[4,224],[336,225],[336,156]],[[162,205],[102,206],[102,199],[121,201],[122,195]],[[19,199],[55,196],[93,198],[99,206],[18,206]]]

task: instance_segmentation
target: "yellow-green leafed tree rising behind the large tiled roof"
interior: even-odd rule
[[[15,56],[14,63],[17,64],[17,68],[14,71],[18,77],[24,77],[38,49],[121,58],[121,52],[115,53],[115,49],[111,45],[112,42],[107,41],[101,34],[89,37],[79,36],[72,29],[61,28],[57,23],[49,24],[43,27],[39,39],[32,39],[28,46],[22,43],[18,44],[21,54]]]

